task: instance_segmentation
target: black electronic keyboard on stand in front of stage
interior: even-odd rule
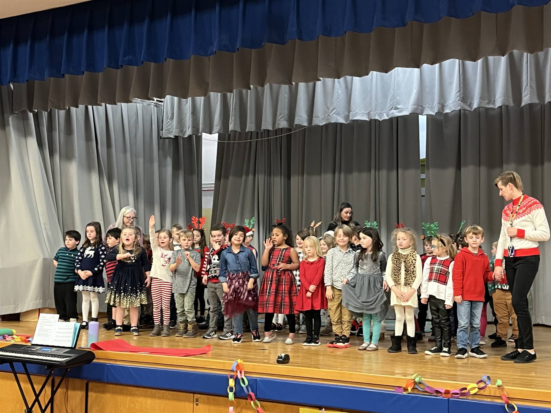
[[[0,363],[18,362],[71,368],[94,361],[93,351],[67,349],[64,347],[10,344],[0,347]]]

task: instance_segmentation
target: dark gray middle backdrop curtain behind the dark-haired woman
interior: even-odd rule
[[[274,220],[286,218],[293,233],[323,221],[323,233],[347,201],[360,224],[379,222],[387,251],[397,222],[420,229],[418,116],[332,123],[263,139],[285,132],[290,129],[219,135],[213,222],[241,224],[255,216],[261,247]],[[253,141],[235,143],[240,140]]]

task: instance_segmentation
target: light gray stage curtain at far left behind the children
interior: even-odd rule
[[[201,140],[160,139],[160,106],[11,113],[0,93],[0,314],[53,307],[64,231],[84,238],[99,221],[105,234],[126,205],[144,229],[152,214],[170,226],[201,211]]]

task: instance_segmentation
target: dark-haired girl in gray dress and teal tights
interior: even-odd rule
[[[381,323],[388,311],[385,281],[386,256],[383,243],[375,228],[365,227],[359,232],[361,250],[356,253],[354,267],[343,280],[343,306],[363,317],[364,343],[358,350],[379,350]],[[373,322],[370,340],[371,322]]]

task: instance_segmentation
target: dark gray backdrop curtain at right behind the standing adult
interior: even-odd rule
[[[493,182],[517,171],[525,192],[551,208],[551,104],[530,104],[427,117],[426,216],[442,232],[457,231],[461,220],[484,228],[488,253],[499,238],[503,198]],[[548,212],[548,215],[551,215]],[[547,292],[551,243],[540,246],[542,260],[532,289],[533,322],[551,324]]]

